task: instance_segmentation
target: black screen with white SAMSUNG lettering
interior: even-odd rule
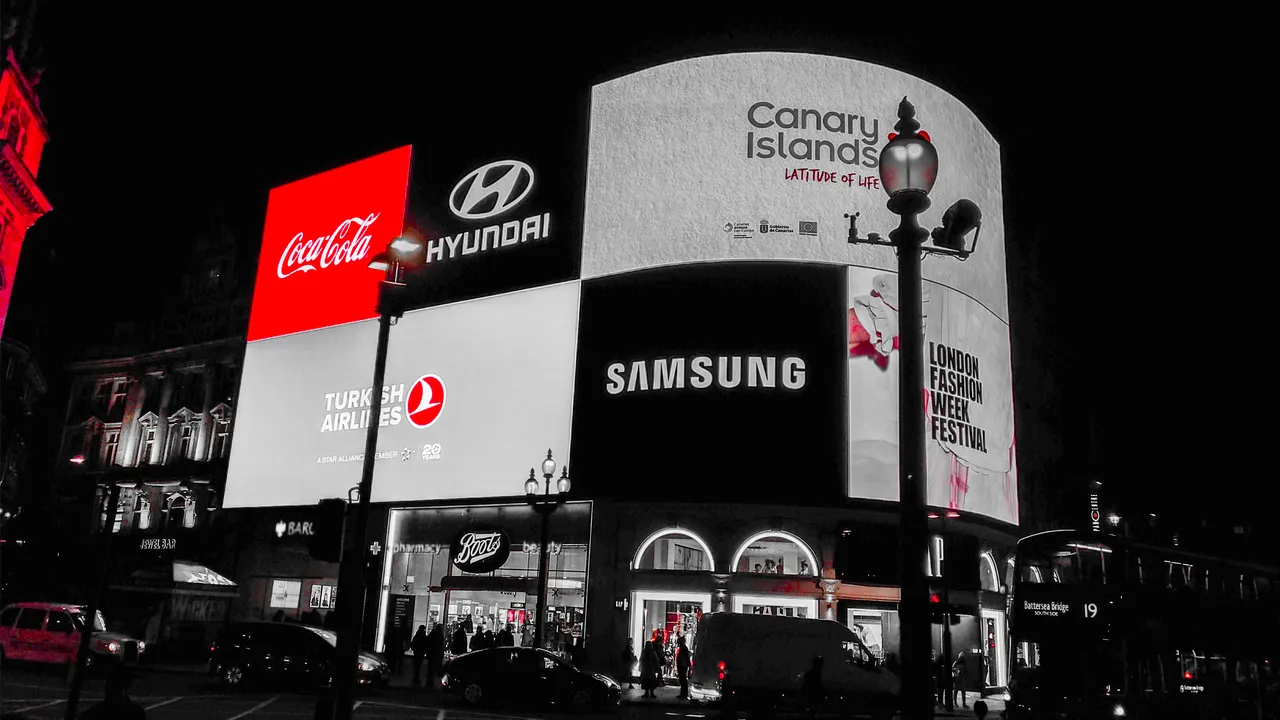
[[[727,263],[584,281],[575,488],[673,501],[842,498],[844,275]],[[777,491],[759,493],[771,480]]]

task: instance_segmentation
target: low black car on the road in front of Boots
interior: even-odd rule
[[[460,655],[444,666],[442,685],[477,705],[498,698],[573,710],[612,707],[622,687],[531,647],[490,647]]]

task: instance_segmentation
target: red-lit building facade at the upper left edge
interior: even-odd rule
[[[47,140],[36,92],[8,51],[0,65],[0,333],[9,315],[22,240],[27,228],[50,209],[36,186]]]

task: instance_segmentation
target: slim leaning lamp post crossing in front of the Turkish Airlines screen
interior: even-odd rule
[[[421,261],[422,243],[410,237],[397,237],[389,250],[369,263],[371,270],[385,273],[378,286],[378,350],[374,355],[374,391],[369,409],[369,430],[365,433],[365,457],[356,489],[356,523],[351,532],[343,524],[343,551],[338,566],[339,628],[338,648],[333,667],[333,717],[349,720],[352,714],[356,671],[360,662],[360,637],[365,621],[365,588],[362,565],[365,536],[369,532],[369,500],[372,496],[374,460],[378,456],[378,428],[383,413],[383,380],[387,374],[387,345],[390,327],[404,314],[404,273]]]

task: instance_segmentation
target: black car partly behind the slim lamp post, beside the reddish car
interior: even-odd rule
[[[292,623],[239,623],[218,635],[210,650],[209,671],[230,687],[273,684],[326,685],[333,682],[338,635],[332,630]],[[380,657],[361,652],[357,680],[384,687],[390,667]]]

